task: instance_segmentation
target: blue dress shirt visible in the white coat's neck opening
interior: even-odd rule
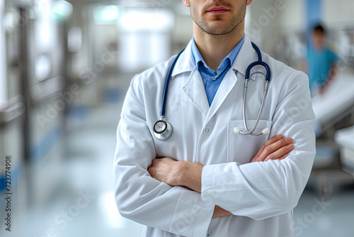
[[[202,76],[202,83],[204,84],[209,106],[212,104],[212,100],[214,99],[215,94],[217,93],[217,89],[219,88],[222,79],[227,74],[231,66],[234,64],[236,56],[239,54],[241,46],[244,44],[244,38],[245,35],[241,39],[241,41],[236,45],[236,47],[229,53],[229,55],[227,55],[227,57],[222,60],[219,67],[217,68],[217,72],[212,70],[202,58],[202,55],[200,55],[200,52],[197,48],[197,45],[195,45],[195,41],[193,38],[192,54],[195,60],[195,65],[197,66],[197,70]]]

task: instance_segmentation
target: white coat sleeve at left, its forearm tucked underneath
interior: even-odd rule
[[[153,92],[149,92],[153,93]],[[132,79],[118,125],[113,167],[115,200],[122,216],[181,236],[206,236],[214,206],[200,193],[152,178],[156,158],[139,77]]]

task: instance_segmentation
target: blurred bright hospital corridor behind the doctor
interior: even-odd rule
[[[316,156],[293,210],[295,236],[354,236],[353,9],[353,0],[247,7],[246,37],[285,65],[310,74],[316,23],[336,55],[333,78],[310,78],[312,101],[289,111],[297,116],[312,103],[316,115]],[[144,226],[115,203],[122,104],[135,75],[192,38],[190,10],[178,0],[1,1],[1,237],[142,236]]]

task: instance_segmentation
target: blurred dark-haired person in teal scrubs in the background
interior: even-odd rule
[[[329,48],[326,35],[326,29],[321,24],[316,24],[312,28],[312,40],[308,48],[307,60],[302,65],[302,70],[309,75],[312,97],[316,94],[324,94],[336,75],[338,57]]]

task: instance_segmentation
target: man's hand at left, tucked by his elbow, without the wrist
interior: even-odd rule
[[[152,165],[147,169],[149,174],[161,182],[171,186],[179,185],[179,163],[171,158],[156,158],[152,160]]]

